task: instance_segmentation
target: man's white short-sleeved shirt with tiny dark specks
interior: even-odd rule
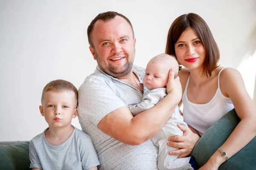
[[[145,69],[134,65],[133,72],[143,83]],[[84,133],[91,136],[99,157],[99,170],[157,169],[157,147],[150,139],[138,146],[128,145],[97,128],[99,121],[108,113],[140,103],[143,94],[137,88],[105,74],[97,66],[80,86],[78,98],[79,122]]]

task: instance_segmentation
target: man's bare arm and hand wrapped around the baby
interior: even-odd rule
[[[108,113],[97,127],[113,138],[131,145],[139,145],[154,136],[172,116],[181,99],[179,77],[174,79],[174,71],[169,72],[167,96],[153,108],[133,117],[127,107],[117,108]]]

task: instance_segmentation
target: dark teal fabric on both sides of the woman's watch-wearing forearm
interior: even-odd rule
[[[203,166],[218,147],[227,140],[239,122],[240,119],[233,109],[204,133],[191,153],[199,167]],[[221,164],[218,170],[255,170],[255,153],[256,137],[228,161]]]

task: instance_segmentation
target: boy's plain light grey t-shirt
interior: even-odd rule
[[[67,141],[58,146],[50,145],[44,132],[35,136],[29,143],[30,168],[87,170],[99,165],[99,159],[90,136],[81,130],[74,127],[73,133]]]

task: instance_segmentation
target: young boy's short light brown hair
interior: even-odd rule
[[[44,94],[47,91],[55,91],[55,92],[62,92],[62,91],[71,91],[74,92],[76,97],[76,105],[77,105],[77,88],[71,83],[63,79],[57,79],[49,82],[43,89],[41,103],[43,105]]]

